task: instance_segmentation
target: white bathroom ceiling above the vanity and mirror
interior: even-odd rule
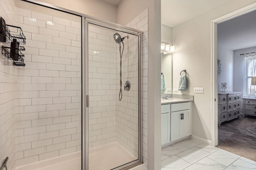
[[[228,0],[161,0],[162,24],[175,27],[200,16]]]

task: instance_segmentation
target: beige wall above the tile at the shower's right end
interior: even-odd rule
[[[148,8],[148,0],[122,0],[117,8],[117,23],[126,26]]]

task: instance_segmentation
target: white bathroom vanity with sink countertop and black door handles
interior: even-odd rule
[[[191,135],[192,99],[161,99],[162,147]]]

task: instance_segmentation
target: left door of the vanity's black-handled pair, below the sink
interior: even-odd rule
[[[180,138],[180,120],[182,112],[172,112],[171,113],[171,141]]]

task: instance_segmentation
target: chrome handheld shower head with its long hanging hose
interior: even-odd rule
[[[129,38],[129,35],[121,38],[121,36],[118,33],[114,34],[114,40],[116,43],[119,44],[119,53],[120,53],[120,91],[119,91],[119,101],[122,100],[123,92],[122,92],[122,57],[123,57],[123,52],[124,52],[124,39]],[[121,42],[123,44],[123,49],[121,46]],[[121,52],[122,51],[122,52]]]

